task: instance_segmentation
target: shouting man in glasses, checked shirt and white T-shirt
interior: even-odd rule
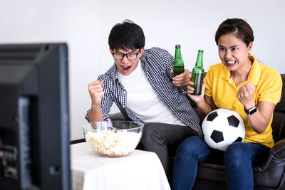
[[[171,184],[169,155],[183,139],[202,135],[185,96],[189,70],[173,78],[173,57],[161,48],[145,49],[142,28],[132,21],[116,24],[108,43],[115,64],[88,85],[92,105],[86,119],[109,120],[115,102],[125,119],[145,123],[141,144],[160,158]]]

